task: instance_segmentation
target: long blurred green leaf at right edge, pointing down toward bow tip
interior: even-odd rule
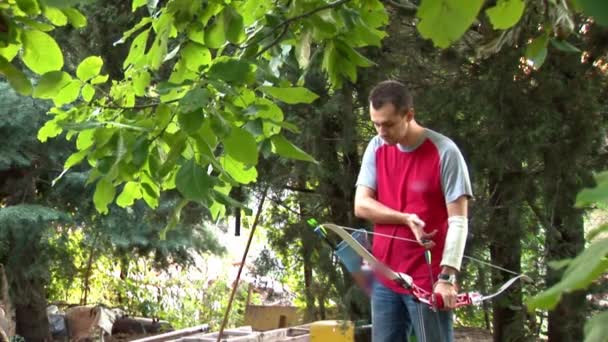
[[[526,305],[528,310],[552,310],[563,293],[584,289],[608,270],[608,239],[593,242],[574,258],[562,279],[548,290],[531,298]]]

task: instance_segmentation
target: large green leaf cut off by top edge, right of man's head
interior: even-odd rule
[[[423,0],[416,16],[422,37],[446,48],[460,39],[477,17],[483,0]]]

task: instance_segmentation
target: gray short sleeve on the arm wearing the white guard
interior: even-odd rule
[[[441,186],[446,203],[457,200],[460,196],[473,197],[469,170],[460,150],[453,142],[443,146],[441,158]]]

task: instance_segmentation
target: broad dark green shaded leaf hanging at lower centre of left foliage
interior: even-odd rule
[[[192,159],[182,165],[175,179],[177,190],[182,196],[203,204],[211,200],[210,193],[214,183],[214,179]]]

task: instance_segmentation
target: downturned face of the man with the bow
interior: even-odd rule
[[[369,105],[369,114],[378,135],[389,145],[397,144],[407,135],[411,115],[399,113],[391,103],[376,109]]]

